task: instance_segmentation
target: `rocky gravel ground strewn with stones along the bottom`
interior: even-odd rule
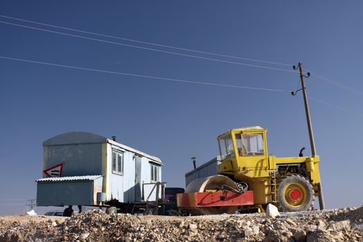
[[[363,241],[363,207],[220,216],[0,216],[0,241]]]

